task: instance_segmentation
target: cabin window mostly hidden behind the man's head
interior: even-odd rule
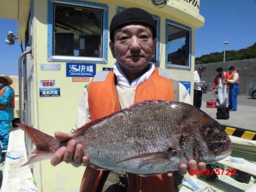
[[[125,7],[117,7],[117,12],[121,12],[125,10]],[[156,47],[154,50],[154,53],[151,58],[151,62],[154,63],[156,66],[159,66],[159,52],[160,52],[160,17],[157,15],[152,15],[152,17],[155,19],[155,24],[156,24]]]

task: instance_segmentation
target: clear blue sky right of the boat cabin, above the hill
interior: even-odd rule
[[[238,50],[256,42],[255,0],[200,0],[204,27],[196,30],[195,56]]]

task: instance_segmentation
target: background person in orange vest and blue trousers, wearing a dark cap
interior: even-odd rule
[[[229,85],[229,111],[237,111],[237,96],[240,87],[240,77],[234,66],[229,66],[229,76],[225,79]]]

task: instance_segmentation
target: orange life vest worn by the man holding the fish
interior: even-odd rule
[[[160,69],[162,70],[162,69]],[[104,99],[102,99],[104,98]],[[143,100],[164,99],[174,101],[174,89],[170,78],[159,74],[155,68],[154,73],[142,84],[137,86],[134,103]],[[107,102],[106,102],[107,101]],[[88,103],[91,120],[101,118],[120,110],[117,91],[115,90],[115,76],[108,72],[104,80],[92,81],[88,90]],[[86,167],[82,178],[80,191],[95,192],[101,181],[104,171]],[[157,176],[140,177],[136,174],[129,174],[128,192],[138,191],[174,191],[174,178],[167,174]]]

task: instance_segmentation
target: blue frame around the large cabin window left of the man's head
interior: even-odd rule
[[[54,3],[63,5],[88,7],[102,10],[102,57],[77,57],[77,56],[55,56],[53,55],[53,9]],[[47,60],[62,62],[84,62],[84,63],[108,63],[108,15],[109,6],[101,3],[92,3],[79,0],[48,0],[48,22],[47,22]]]

